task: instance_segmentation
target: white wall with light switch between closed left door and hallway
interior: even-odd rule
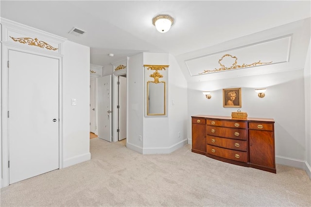
[[[70,41],[63,46],[63,167],[68,167],[90,159],[90,57],[89,47]]]

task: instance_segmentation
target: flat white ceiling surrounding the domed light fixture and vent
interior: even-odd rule
[[[309,0],[1,0],[0,16],[89,46],[91,63],[106,66],[140,52],[167,52],[182,62],[196,51],[311,17],[310,6]],[[155,30],[158,14],[175,18],[169,32]],[[69,35],[73,27],[86,34]]]

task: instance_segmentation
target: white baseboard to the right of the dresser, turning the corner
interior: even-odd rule
[[[281,165],[291,166],[294,168],[303,169],[306,171],[306,173],[309,175],[311,179],[311,167],[309,163],[305,160],[276,155],[276,163],[281,164]]]

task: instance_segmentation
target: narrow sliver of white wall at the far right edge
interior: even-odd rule
[[[304,69],[305,76],[305,114],[306,114],[306,169],[311,177],[311,40],[307,52],[307,59]]]

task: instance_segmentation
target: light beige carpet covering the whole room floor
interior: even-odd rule
[[[282,165],[277,173],[191,153],[141,155],[90,139],[91,160],[1,189],[1,207],[17,206],[311,206],[311,180]]]

